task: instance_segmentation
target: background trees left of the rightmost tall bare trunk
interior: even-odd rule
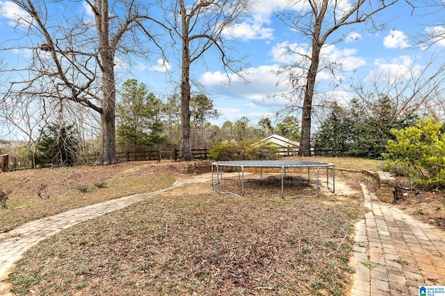
[[[148,150],[175,150],[180,148],[181,116],[179,95],[165,100],[150,92],[147,86],[135,79],[127,80],[119,92],[116,103],[116,145],[121,152]],[[298,140],[300,125],[295,116],[287,116],[276,126],[264,118],[257,124],[243,116],[235,122],[225,121],[221,127],[210,123],[219,114],[213,100],[205,94],[191,98],[191,143],[192,148],[211,148],[221,141],[252,141],[278,133]],[[50,121],[38,130],[33,145],[25,144],[8,148],[3,141],[3,152],[12,157],[28,158],[32,166],[51,164],[72,166],[81,164],[85,155],[97,153],[94,139],[86,140],[86,131],[76,122]]]

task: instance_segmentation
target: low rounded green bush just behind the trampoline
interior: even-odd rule
[[[273,145],[255,146],[252,142],[223,141],[216,143],[209,150],[209,157],[213,160],[260,160],[277,159],[278,148]]]

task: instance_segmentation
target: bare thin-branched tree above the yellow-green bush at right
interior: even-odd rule
[[[364,106],[363,114],[372,119],[382,131],[389,132],[388,126],[402,117],[435,116],[440,119],[445,111],[442,105],[445,91],[445,64],[439,64],[435,59],[430,60],[425,67],[412,64],[410,68],[398,69],[396,73],[380,72],[373,77],[366,78],[360,85],[353,87],[353,94]],[[381,98],[387,100],[385,112],[376,110],[375,102]],[[383,122],[385,117],[385,122]]]

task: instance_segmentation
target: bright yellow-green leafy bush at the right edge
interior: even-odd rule
[[[445,136],[442,123],[420,119],[415,126],[391,130],[396,140],[389,140],[386,167],[404,166],[405,175],[416,185],[429,189],[445,188]]]

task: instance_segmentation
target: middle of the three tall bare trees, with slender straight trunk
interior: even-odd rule
[[[179,0],[171,1],[163,10],[181,46],[181,157],[191,160],[191,65],[203,58],[209,49],[216,49],[225,71],[238,72],[234,67],[241,60],[229,57],[231,48],[224,33],[249,12],[250,6],[248,0]]]

